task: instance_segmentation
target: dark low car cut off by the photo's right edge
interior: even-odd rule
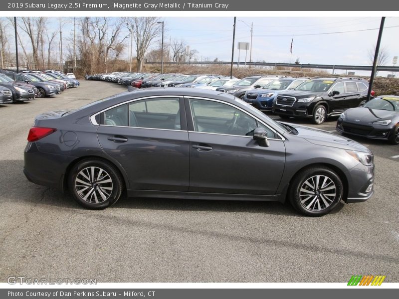
[[[363,107],[345,111],[338,119],[337,131],[399,144],[399,96],[379,96]]]

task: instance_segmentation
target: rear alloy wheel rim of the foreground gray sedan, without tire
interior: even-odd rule
[[[79,171],[74,184],[77,194],[84,201],[93,204],[108,200],[113,190],[111,176],[97,166],[86,167]]]

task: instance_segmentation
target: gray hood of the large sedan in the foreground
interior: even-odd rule
[[[298,131],[297,135],[298,137],[301,137],[314,145],[337,148],[337,149],[348,149],[348,150],[370,152],[370,149],[366,148],[360,143],[345,138],[343,136],[339,136],[324,130],[305,127],[301,125],[284,123],[284,122],[280,123],[294,127]]]

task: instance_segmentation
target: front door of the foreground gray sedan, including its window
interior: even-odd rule
[[[192,192],[273,195],[285,164],[284,142],[271,128],[232,104],[187,98]],[[263,126],[270,147],[252,132]]]

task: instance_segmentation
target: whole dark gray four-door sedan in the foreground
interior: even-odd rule
[[[36,117],[24,173],[69,189],[84,207],[129,197],[289,200],[321,216],[373,191],[372,152],[352,140],[278,123],[226,93],[122,93]]]

